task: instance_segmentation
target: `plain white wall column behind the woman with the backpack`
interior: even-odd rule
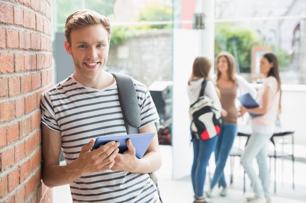
[[[187,81],[193,61],[198,55],[204,55],[214,64],[215,3],[213,0],[197,0],[195,10],[206,15],[205,29],[174,29],[173,35],[173,179],[180,179],[191,174],[193,148],[190,142]]]

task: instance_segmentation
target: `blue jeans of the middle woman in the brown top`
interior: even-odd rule
[[[218,142],[215,148],[215,161],[216,169],[214,177],[211,180],[210,188],[220,182],[220,185],[226,187],[226,181],[224,177],[224,167],[226,160],[233,146],[234,139],[237,135],[237,125],[230,123],[223,123],[222,129],[219,133]]]

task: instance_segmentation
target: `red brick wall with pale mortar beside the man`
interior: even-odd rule
[[[51,203],[40,96],[52,83],[51,0],[0,1],[0,203]]]

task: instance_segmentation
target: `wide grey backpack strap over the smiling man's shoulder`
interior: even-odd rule
[[[127,74],[112,74],[117,82],[118,96],[128,134],[138,133],[141,119],[138,99],[132,78]]]

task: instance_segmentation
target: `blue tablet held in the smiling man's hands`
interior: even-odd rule
[[[136,157],[141,159],[147,151],[155,132],[151,133],[139,133],[139,134],[128,134],[128,135],[116,135],[116,136],[102,136],[98,137],[91,150],[99,148],[101,145],[105,145],[110,141],[120,142],[119,153],[123,153],[128,150],[127,141],[131,139],[131,142],[136,149]]]

